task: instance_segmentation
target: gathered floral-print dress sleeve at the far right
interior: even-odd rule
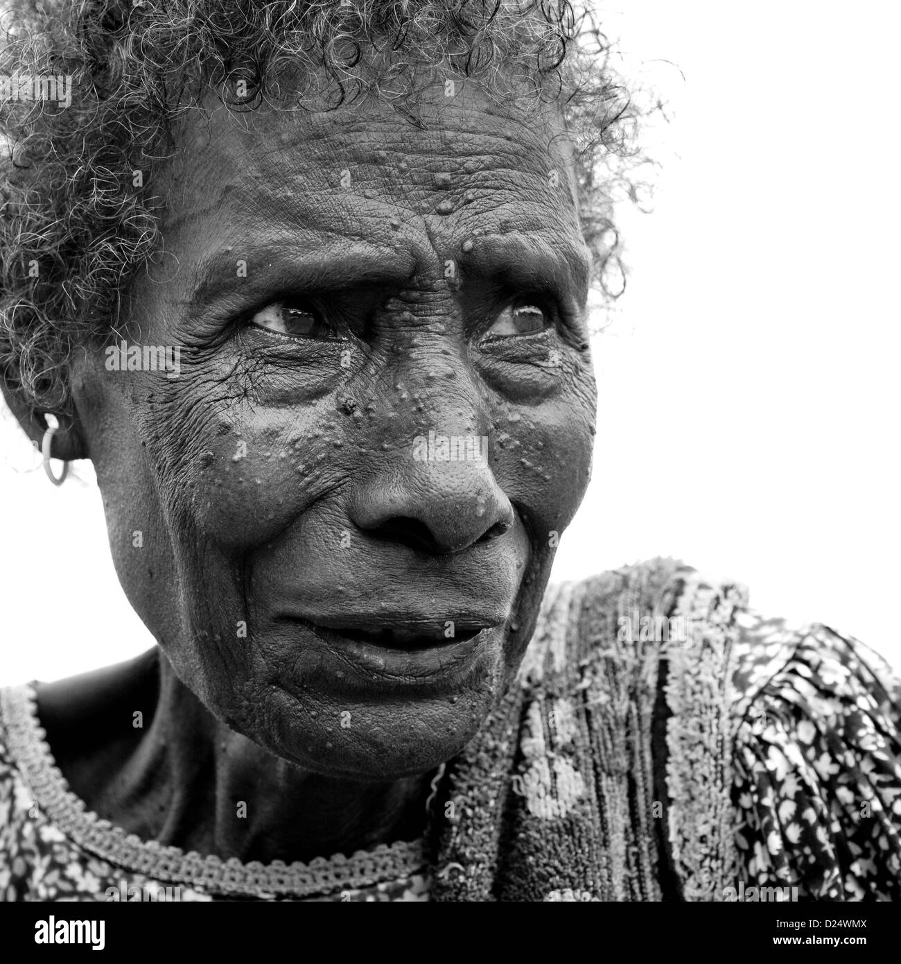
[[[748,614],[733,754],[739,872],[799,900],[901,899],[901,687],[857,640]]]

